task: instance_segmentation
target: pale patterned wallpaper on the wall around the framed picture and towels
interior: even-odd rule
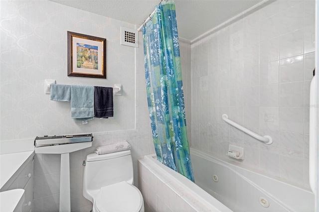
[[[81,12],[78,12],[81,11]],[[119,20],[51,1],[0,2],[0,140],[134,129],[135,48],[120,45]],[[107,79],[67,76],[67,31],[107,39]],[[74,122],[69,102],[50,101],[44,80],[57,84],[113,87],[114,117]]]

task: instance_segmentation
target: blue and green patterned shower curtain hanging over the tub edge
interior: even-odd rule
[[[142,30],[147,98],[157,158],[194,181],[174,1],[161,1]]]

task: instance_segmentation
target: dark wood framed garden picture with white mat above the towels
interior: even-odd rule
[[[68,31],[68,76],[106,79],[106,39]]]

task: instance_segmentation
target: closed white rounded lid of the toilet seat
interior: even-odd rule
[[[138,212],[142,204],[141,192],[125,181],[101,188],[95,201],[101,212]]]

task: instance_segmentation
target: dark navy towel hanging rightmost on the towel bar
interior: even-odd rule
[[[94,87],[94,116],[113,117],[113,88]]]

